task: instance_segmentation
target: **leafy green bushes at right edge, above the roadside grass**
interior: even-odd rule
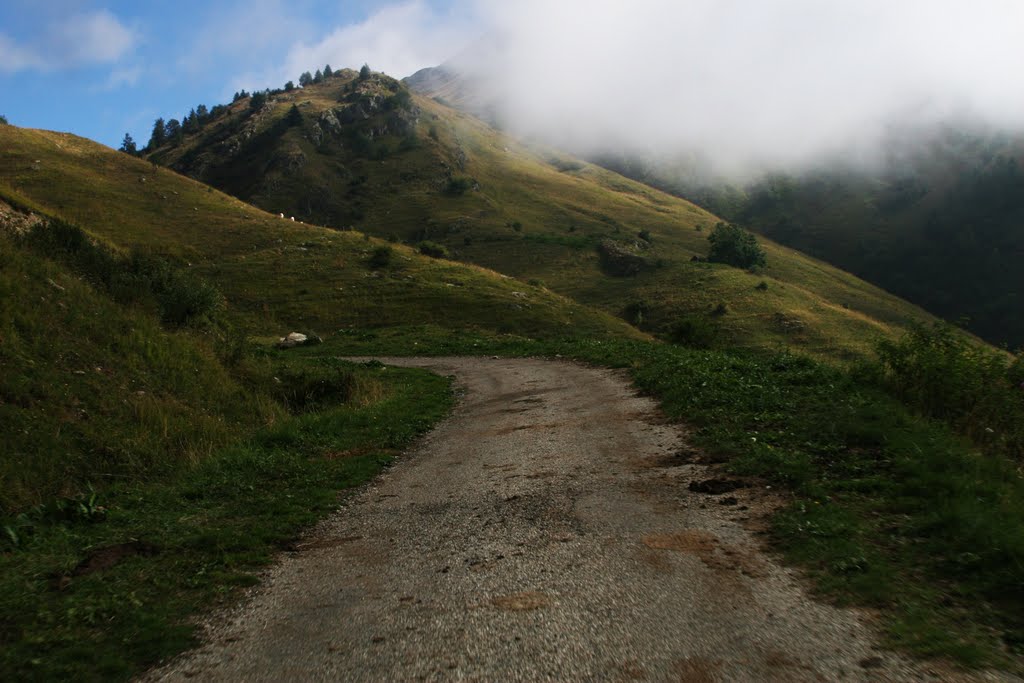
[[[1024,462],[1022,357],[1011,359],[936,324],[881,342],[871,373],[925,415],[949,423],[994,454]]]

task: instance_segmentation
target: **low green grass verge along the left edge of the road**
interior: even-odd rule
[[[237,599],[452,404],[447,380],[425,372],[340,361],[317,372],[332,367],[362,390],[164,480],[109,487],[95,514],[24,515],[20,545],[0,552],[0,678],[127,680],[195,645],[198,613]],[[139,552],[81,572],[120,544]]]

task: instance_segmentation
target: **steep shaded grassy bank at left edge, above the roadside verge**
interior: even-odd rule
[[[0,230],[0,515],[188,467],[282,417],[167,333]]]

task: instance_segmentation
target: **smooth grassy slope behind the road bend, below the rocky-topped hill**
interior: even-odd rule
[[[63,133],[0,127],[0,198],[121,248],[190,264],[251,333],[431,323],[532,335],[637,337],[613,317],[484,269],[355,232],[283,221],[167,169]]]

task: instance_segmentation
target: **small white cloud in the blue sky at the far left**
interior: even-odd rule
[[[0,34],[0,70],[58,71],[114,63],[136,45],[136,32],[105,10],[72,14],[22,44]]]

